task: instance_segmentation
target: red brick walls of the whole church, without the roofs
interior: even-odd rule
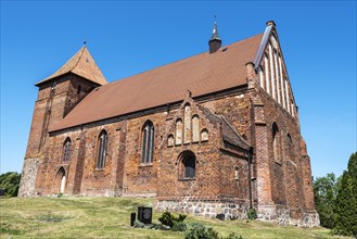
[[[188,91],[180,102],[55,131],[51,126],[99,85],[73,73],[41,84],[20,196],[156,197],[158,209],[245,218],[253,206],[263,219],[318,225],[310,162],[282,80],[288,75],[276,70],[268,90],[268,77],[259,75],[264,56],[260,62],[260,68],[246,64],[246,84],[197,97]],[[153,140],[143,134],[146,124]],[[105,161],[98,167],[104,130]],[[151,152],[144,144],[152,161],[143,160]]]

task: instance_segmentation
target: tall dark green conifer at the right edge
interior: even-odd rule
[[[357,152],[350,155],[342,175],[334,214],[333,232],[357,237]]]

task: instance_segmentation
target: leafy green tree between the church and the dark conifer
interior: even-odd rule
[[[316,210],[320,215],[320,224],[327,228],[333,228],[333,206],[339,191],[339,179],[333,173],[314,180],[314,194]]]

